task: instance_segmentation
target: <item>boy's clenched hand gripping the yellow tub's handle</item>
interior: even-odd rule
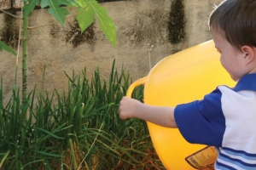
[[[119,105],[119,117],[120,119],[127,119],[136,116],[138,110],[138,105],[142,103],[137,99],[131,99],[128,97],[123,97]]]

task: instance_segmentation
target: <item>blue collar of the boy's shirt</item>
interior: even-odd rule
[[[241,90],[252,90],[256,91],[256,73],[247,74],[236,83],[234,91],[238,92]]]

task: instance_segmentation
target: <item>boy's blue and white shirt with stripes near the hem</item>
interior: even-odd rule
[[[235,88],[218,86],[202,100],[177,105],[174,116],[189,143],[219,148],[215,169],[256,169],[256,74]]]

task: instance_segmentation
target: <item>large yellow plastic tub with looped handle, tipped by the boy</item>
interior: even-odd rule
[[[131,84],[127,96],[131,97],[139,85],[144,85],[144,103],[176,106],[203,99],[218,85],[233,87],[236,82],[220,64],[219,54],[211,40],[162,59],[147,77]],[[217,152],[213,147],[189,144],[177,128],[147,124],[154,149],[166,169],[204,169],[216,161]]]

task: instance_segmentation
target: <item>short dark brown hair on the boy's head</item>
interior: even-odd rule
[[[225,0],[210,15],[209,27],[236,48],[256,47],[256,0]]]

